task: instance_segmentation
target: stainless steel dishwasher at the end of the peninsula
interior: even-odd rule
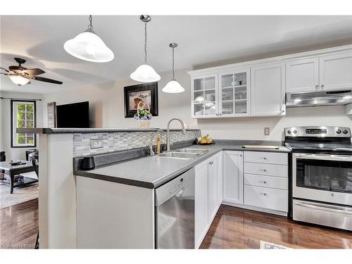
[[[155,190],[156,249],[194,249],[194,168]]]

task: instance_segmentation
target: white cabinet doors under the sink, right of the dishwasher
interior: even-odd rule
[[[196,165],[194,245],[198,249],[201,241],[222,202],[219,184],[222,184],[222,153],[217,153]],[[220,185],[222,186],[222,185]]]

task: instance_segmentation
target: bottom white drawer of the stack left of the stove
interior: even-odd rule
[[[249,206],[287,212],[288,191],[244,185],[244,203]]]

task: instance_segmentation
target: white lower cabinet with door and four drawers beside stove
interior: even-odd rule
[[[287,153],[224,151],[223,158],[223,201],[227,205],[280,215],[287,213]]]

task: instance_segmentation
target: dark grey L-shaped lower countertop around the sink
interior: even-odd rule
[[[210,151],[197,158],[187,160],[160,156],[144,156],[128,161],[97,166],[94,170],[77,170],[75,171],[75,175],[154,189],[177,177],[182,172],[189,170],[201,161],[210,158],[210,156],[219,151],[291,152],[284,146],[279,146],[279,149],[243,149],[242,144],[238,144],[238,142],[237,144],[231,144],[230,141],[227,141],[226,144],[219,141],[219,143],[213,145],[191,145],[187,146],[187,148],[209,149]]]

